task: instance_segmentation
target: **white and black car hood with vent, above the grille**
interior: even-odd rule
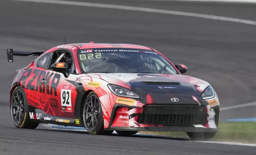
[[[105,81],[130,87],[132,91],[142,96],[142,102],[158,104],[183,103],[192,104],[201,101],[202,91],[209,85],[208,82],[196,77],[180,74],[100,74]],[[171,102],[171,98],[179,101]],[[150,100],[150,101],[149,101]]]

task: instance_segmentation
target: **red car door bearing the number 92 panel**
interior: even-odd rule
[[[54,51],[52,53],[50,66],[56,62],[62,53],[69,53],[69,51]],[[72,74],[75,72],[73,60],[73,57],[71,57],[70,62],[68,62],[70,64],[70,75],[68,77],[65,77],[62,73],[53,71],[50,66],[48,68],[42,68],[39,75],[41,91],[39,91],[38,96],[42,110],[49,115],[74,118],[76,88],[68,82],[75,81],[77,78],[76,74]],[[65,58],[60,60],[60,62],[65,61]]]

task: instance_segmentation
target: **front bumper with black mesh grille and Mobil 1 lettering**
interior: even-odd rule
[[[115,104],[106,130],[217,132],[219,106]]]

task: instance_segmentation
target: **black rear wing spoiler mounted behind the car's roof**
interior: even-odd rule
[[[45,52],[22,52],[22,51],[14,51],[14,49],[7,49],[7,58],[8,62],[14,62],[14,55],[18,56],[32,56],[32,55],[41,55]]]

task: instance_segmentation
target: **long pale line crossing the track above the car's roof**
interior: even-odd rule
[[[164,13],[169,15],[182,15],[182,16],[189,16],[189,17],[198,17],[198,18],[213,19],[213,20],[219,20],[219,21],[230,21],[230,22],[236,22],[236,23],[256,25],[256,21],[250,21],[250,20],[244,20],[244,19],[222,17],[222,16],[216,16],[216,15],[204,15],[200,13],[171,11],[171,10],[163,10],[163,9],[141,8],[141,7],[133,7],[133,6],[120,6],[120,5],[112,5],[112,4],[97,4],[97,3],[87,3],[87,2],[71,2],[71,1],[63,1],[63,0],[14,0],[14,1],[65,4],[65,5],[72,5],[72,6],[85,6],[85,7],[94,7],[94,8],[108,8],[108,9],[122,9],[122,10],[130,10],[130,11],[143,11],[143,12],[151,12],[151,13]]]

